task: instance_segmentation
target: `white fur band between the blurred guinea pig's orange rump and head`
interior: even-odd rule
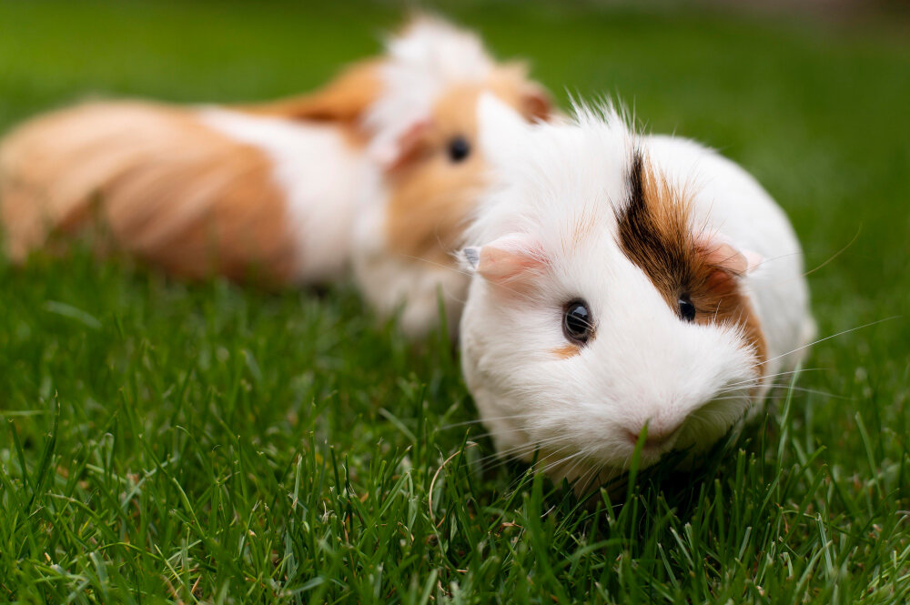
[[[235,140],[257,146],[274,163],[298,248],[302,282],[339,277],[349,262],[351,224],[362,200],[380,195],[379,168],[351,147],[338,128],[251,116],[215,107],[199,119]]]

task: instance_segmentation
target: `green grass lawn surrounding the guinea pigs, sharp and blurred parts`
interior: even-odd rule
[[[490,463],[447,338],[323,295],[125,259],[0,261],[0,600],[910,600],[905,28],[468,3],[560,91],[747,166],[806,248],[823,336],[692,473],[579,502]],[[0,128],[95,93],[277,96],[376,48],[388,5],[0,3]]]

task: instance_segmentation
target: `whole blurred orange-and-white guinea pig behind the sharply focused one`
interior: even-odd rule
[[[178,276],[322,282],[349,265],[358,223],[370,262],[385,253],[435,272],[433,263],[451,263],[446,248],[482,186],[476,109],[466,105],[481,90],[528,120],[550,111],[521,66],[417,17],[383,55],[308,95],[244,106],[97,102],[38,116],[0,144],[8,254],[21,261],[51,234],[95,225],[99,249]],[[365,289],[381,310],[399,303]]]

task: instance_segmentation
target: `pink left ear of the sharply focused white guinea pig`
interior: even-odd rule
[[[547,265],[537,239],[527,233],[513,233],[481,247],[465,247],[459,253],[461,266],[491,284],[524,292],[533,277]]]

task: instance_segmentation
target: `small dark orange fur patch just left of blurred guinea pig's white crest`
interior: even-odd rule
[[[360,61],[344,68],[329,84],[311,93],[261,105],[241,106],[240,109],[264,116],[353,125],[379,96],[381,65],[379,59]]]

